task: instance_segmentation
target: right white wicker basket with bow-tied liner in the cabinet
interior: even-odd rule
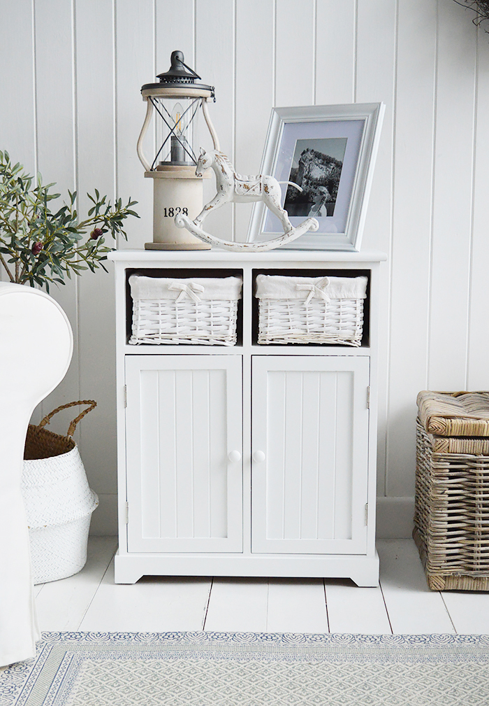
[[[258,275],[258,342],[361,345],[366,277]]]

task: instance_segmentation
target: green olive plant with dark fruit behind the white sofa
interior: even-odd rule
[[[80,221],[76,191],[68,191],[69,203],[53,213],[50,202],[61,196],[50,191],[56,184],[44,185],[41,174],[35,180],[23,169],[0,150],[0,263],[11,282],[49,292],[51,282],[64,285],[72,273],[99,267],[107,271],[103,261],[112,248],[104,235],[127,239],[123,222],[128,216],[139,217],[131,208],[137,201],[129,199],[123,206],[118,198],[112,206],[95,189],[93,196],[87,193],[93,205]]]

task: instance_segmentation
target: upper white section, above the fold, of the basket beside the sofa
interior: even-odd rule
[[[78,446],[58,456],[24,460],[21,488],[30,528],[79,520],[99,504]]]

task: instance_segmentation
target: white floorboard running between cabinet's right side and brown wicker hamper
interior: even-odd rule
[[[377,542],[380,586],[393,633],[454,633],[454,626],[438,591],[431,591],[412,539]]]

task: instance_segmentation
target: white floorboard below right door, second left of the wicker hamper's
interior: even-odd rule
[[[268,580],[268,633],[327,633],[322,579]]]

